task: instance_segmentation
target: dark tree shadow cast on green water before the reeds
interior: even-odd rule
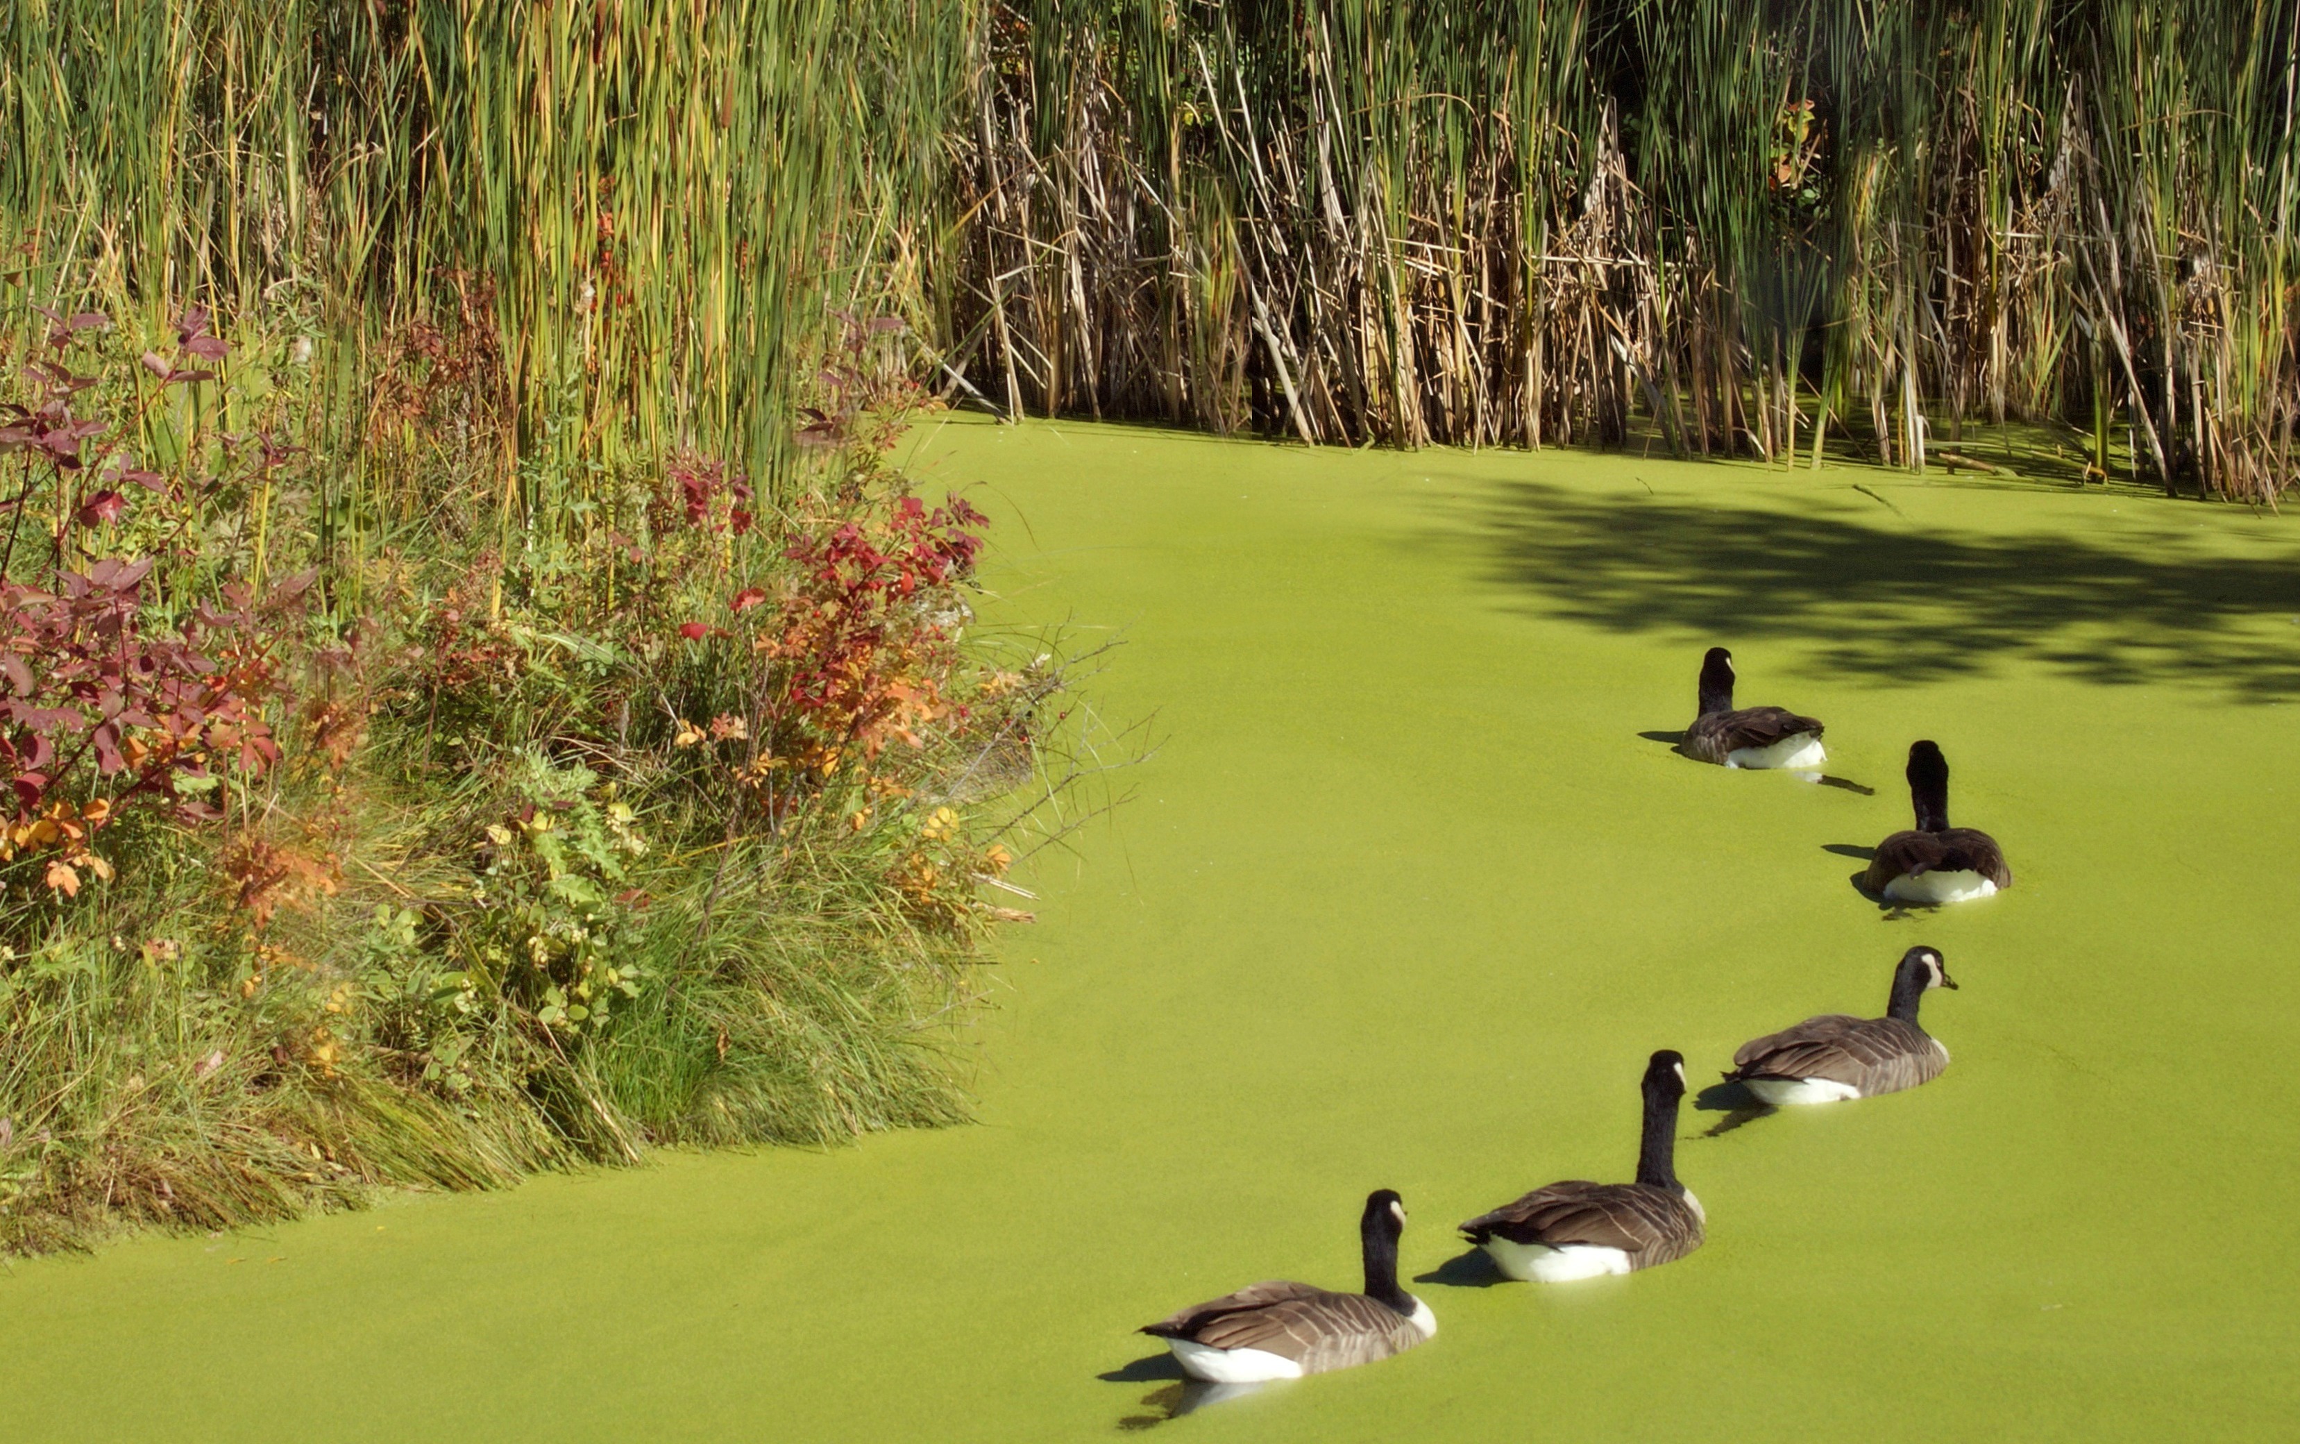
[[[2100,685],[2300,694],[2300,625],[2282,646],[2231,625],[2300,614],[2300,550],[2213,556],[2174,531],[2098,545],[2082,531],[1994,538],[1877,517],[1711,510],[1520,481],[1477,520],[1493,579],[1543,616],[1610,632],[1796,637],[1817,644],[1822,667],[1874,681],[2022,662]]]

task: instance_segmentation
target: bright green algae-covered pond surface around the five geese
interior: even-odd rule
[[[2300,531],[2139,492],[954,421],[984,614],[1125,637],[1159,750],[1028,878],[977,1127],[672,1154],[0,1274],[0,1439],[2167,1439],[2300,1398]],[[1854,786],[1670,740],[1709,644]],[[2017,885],[1863,899],[1937,738]],[[1916,1092],[1727,1127],[1709,1244],[1493,1283],[1451,1223],[1628,1177],[1638,1074],[1877,1014]],[[1129,1334],[1355,1288],[1440,1334],[1162,1421]]]

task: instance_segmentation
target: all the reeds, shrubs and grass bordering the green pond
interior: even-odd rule
[[[936,405],[2291,481],[2300,0],[0,14],[0,1251],[966,1113]],[[1946,435],[1943,435],[1946,432]],[[1946,451],[1946,455],[1943,455]],[[1026,901],[1026,899],[1021,899]]]

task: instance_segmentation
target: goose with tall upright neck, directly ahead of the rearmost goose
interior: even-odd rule
[[[1702,1246],[1702,1200],[1677,1182],[1677,1099],[1686,1060],[1663,1049],[1644,1067],[1644,1143],[1638,1182],[1571,1180],[1479,1214],[1460,1232],[1511,1278],[1564,1283],[1628,1274]]]

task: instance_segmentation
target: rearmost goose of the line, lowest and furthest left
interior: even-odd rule
[[[1145,1324],[1143,1334],[1164,1338],[1182,1373],[1214,1384],[1297,1380],[1373,1364],[1435,1338],[1438,1315],[1398,1288],[1398,1235],[1405,1232],[1398,1196],[1375,1189],[1357,1232],[1366,1253],[1362,1295],[1276,1278],[1191,1304]]]

